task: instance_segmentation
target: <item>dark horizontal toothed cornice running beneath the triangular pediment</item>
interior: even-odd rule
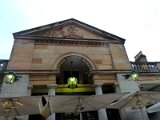
[[[45,36],[14,36],[16,39],[33,40],[35,44],[74,44],[74,45],[108,45],[109,43],[124,44],[124,41],[108,39],[84,39],[84,38],[58,38]]]

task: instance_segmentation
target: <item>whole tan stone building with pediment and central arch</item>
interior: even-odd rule
[[[68,19],[20,31],[13,36],[7,71],[15,71],[21,78],[14,84],[3,82],[2,96],[47,95],[51,91],[52,95],[94,95],[160,90],[159,62],[148,62],[142,52],[135,57],[135,62],[130,62],[125,39],[81,21]],[[139,84],[124,77],[133,68],[139,72]],[[75,88],[67,84],[71,73],[78,80]],[[90,111],[82,116],[85,120],[140,120],[138,113],[132,109],[103,109],[101,113]],[[158,119],[155,114],[146,113],[146,120]],[[78,115],[65,113],[56,113],[47,119],[55,118],[80,119]],[[42,117],[29,115],[20,119]]]

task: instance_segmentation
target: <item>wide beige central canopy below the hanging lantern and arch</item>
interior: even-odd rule
[[[48,104],[42,111],[43,116],[51,113],[80,113],[107,108],[127,93],[109,93],[103,95],[56,95],[44,96]],[[48,112],[47,112],[48,111]]]

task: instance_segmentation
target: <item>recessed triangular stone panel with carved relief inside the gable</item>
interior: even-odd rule
[[[103,36],[92,33],[91,31],[86,30],[75,24],[66,24],[57,27],[51,27],[31,33],[29,35],[56,38],[104,39]]]

